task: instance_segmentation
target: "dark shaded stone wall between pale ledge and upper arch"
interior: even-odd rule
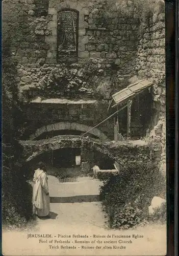
[[[26,114],[26,123],[24,125],[25,132],[23,139],[29,139],[31,134],[34,134],[37,129],[41,129],[44,125],[48,125],[49,129],[44,128],[43,133],[50,132],[50,124],[59,122],[78,123],[94,127],[99,122],[108,117],[108,101],[85,103],[31,103],[24,105],[23,112]],[[85,132],[84,128],[79,131]],[[113,118],[101,124],[98,129],[104,133],[109,139],[114,138]],[[43,130],[43,129],[42,129]],[[59,130],[54,129],[55,130]],[[68,130],[65,128],[64,130]],[[69,129],[71,130],[71,128]],[[72,130],[78,130],[77,127]],[[51,131],[53,131],[51,129]],[[87,130],[88,131],[88,130]],[[86,132],[87,132],[86,131]],[[95,131],[95,130],[94,130]],[[93,132],[94,132],[93,131]],[[92,133],[94,136],[99,136],[97,133]],[[39,133],[40,135],[40,133]],[[33,138],[34,139],[34,138]],[[101,136],[100,136],[101,139]],[[107,139],[107,138],[106,138]]]

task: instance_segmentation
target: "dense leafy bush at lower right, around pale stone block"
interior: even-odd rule
[[[148,206],[154,196],[165,198],[165,178],[152,164],[111,176],[100,188],[100,197],[112,228],[127,229],[145,221],[165,221],[166,206],[150,217]]]

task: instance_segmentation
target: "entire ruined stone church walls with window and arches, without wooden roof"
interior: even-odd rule
[[[122,152],[135,155],[139,147],[165,173],[165,8],[162,0],[141,3],[3,2],[3,32],[17,61],[14,86],[25,116],[25,160],[54,143],[77,143],[73,135],[80,136],[77,147],[88,145],[83,152],[97,139],[100,152],[122,164],[131,162]],[[112,95],[143,79],[151,86],[139,88],[131,106],[108,119],[116,111]],[[84,133],[89,138],[81,138]]]

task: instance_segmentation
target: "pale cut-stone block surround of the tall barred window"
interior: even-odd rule
[[[88,23],[85,22],[84,16],[89,15],[89,7],[86,3],[78,1],[49,1],[48,14],[52,15],[52,21],[47,24],[47,29],[52,31],[52,34],[45,36],[45,41],[49,45],[49,50],[47,52],[47,58],[57,61],[57,16],[58,12],[64,9],[73,9],[79,12],[79,36],[78,36],[78,56],[79,57],[89,57],[89,53],[85,51],[85,45],[88,43],[89,36],[86,35],[86,29],[89,27]]]

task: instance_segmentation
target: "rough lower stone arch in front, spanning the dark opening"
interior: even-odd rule
[[[98,151],[123,167],[134,166],[138,162],[153,161],[153,153],[147,143],[133,143],[132,141],[108,141],[101,142],[93,138],[86,138],[74,135],[60,135],[45,140],[19,141],[22,147],[22,156],[29,162],[44,152],[58,150],[59,148],[86,148],[91,151]]]

